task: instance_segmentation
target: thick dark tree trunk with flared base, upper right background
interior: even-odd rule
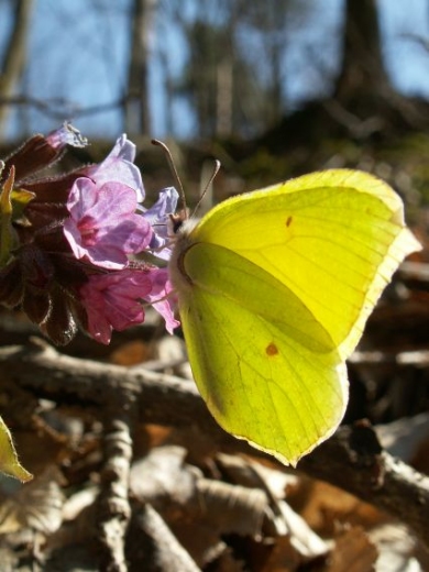
[[[392,90],[383,62],[376,0],[346,0],[341,72],[336,98],[342,103]]]

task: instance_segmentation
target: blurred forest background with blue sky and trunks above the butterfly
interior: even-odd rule
[[[84,161],[128,132],[150,194],[158,136],[191,196],[216,156],[217,199],[358,167],[424,212],[428,26],[426,0],[0,0],[1,144],[69,119]]]

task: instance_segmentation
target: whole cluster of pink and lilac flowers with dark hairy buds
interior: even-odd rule
[[[86,145],[69,124],[31,138],[0,162],[0,302],[21,306],[57,344],[77,328],[109,343],[112,330],[144,321],[145,304],[172,332],[178,322],[167,270],[144,255],[169,257],[176,190],[143,207],[135,146],[125,135],[100,164],[41,176],[66,145]]]

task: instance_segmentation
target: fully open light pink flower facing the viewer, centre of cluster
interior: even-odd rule
[[[64,222],[75,256],[103,268],[124,268],[127,254],[143,251],[153,233],[136,207],[134,190],[124,184],[76,179],[67,201],[70,217]]]

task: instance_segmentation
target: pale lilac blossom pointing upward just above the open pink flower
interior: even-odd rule
[[[135,145],[122,134],[114,147],[99,165],[85,167],[82,175],[94,179],[97,185],[121,183],[134,189],[138,202],[143,202],[144,188],[140,169],[134,165]]]

